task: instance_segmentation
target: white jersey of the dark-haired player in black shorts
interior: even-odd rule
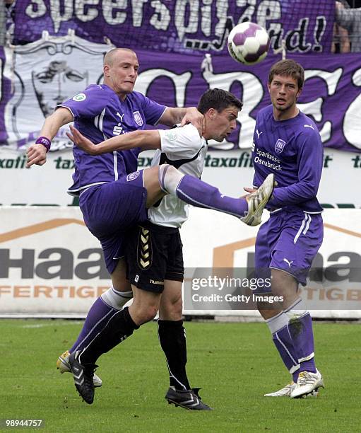
[[[208,144],[206,139],[199,137],[199,132],[193,125],[159,130],[160,147],[152,161],[152,166],[170,164],[180,172],[200,178]],[[150,222],[158,226],[180,227],[188,218],[189,205],[178,197],[166,195],[158,207],[150,207],[148,215]]]

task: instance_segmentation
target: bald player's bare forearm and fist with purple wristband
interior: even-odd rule
[[[44,125],[40,132],[40,138],[43,142],[49,144],[52,139],[57,135],[59,128],[66,125],[69,122],[73,122],[73,115],[67,108],[58,108],[57,111],[53,112],[52,115],[45,119]],[[26,151],[28,155],[27,167],[31,167],[33,164],[42,166],[47,162],[47,147],[41,143],[32,144]]]

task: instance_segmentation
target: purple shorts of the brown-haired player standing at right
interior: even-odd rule
[[[271,269],[292,275],[303,286],[324,238],[321,214],[280,210],[261,225],[256,238],[254,267],[257,277],[270,277]],[[270,291],[259,288],[255,292]]]

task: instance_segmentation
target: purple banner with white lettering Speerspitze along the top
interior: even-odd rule
[[[91,42],[162,52],[226,52],[234,25],[264,26],[276,50],[329,52],[334,0],[18,0],[15,44],[69,28]]]

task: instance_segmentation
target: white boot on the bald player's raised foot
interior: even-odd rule
[[[247,226],[258,226],[261,224],[262,212],[264,212],[264,207],[270,199],[274,187],[275,175],[269,174],[264,183],[255,192],[251,192],[246,197],[248,212],[245,217],[241,218],[244,224],[247,224]]]

